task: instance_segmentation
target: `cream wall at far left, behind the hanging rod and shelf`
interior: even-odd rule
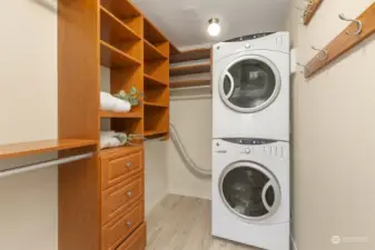
[[[56,12],[2,1],[0,30],[0,144],[56,139]],[[57,169],[0,179],[0,249],[57,249]]]

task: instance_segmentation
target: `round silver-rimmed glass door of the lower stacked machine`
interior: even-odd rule
[[[276,178],[261,166],[236,162],[226,168],[219,183],[225,204],[245,220],[264,220],[279,208],[280,187]]]

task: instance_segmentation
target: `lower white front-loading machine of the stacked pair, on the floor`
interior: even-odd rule
[[[213,141],[213,234],[289,250],[289,143]]]

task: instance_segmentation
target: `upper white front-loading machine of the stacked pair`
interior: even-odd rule
[[[289,34],[213,47],[213,137],[289,141]]]

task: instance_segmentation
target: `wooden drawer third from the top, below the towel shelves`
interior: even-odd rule
[[[119,214],[101,229],[101,250],[115,250],[118,246],[144,222],[144,200],[131,209]]]

